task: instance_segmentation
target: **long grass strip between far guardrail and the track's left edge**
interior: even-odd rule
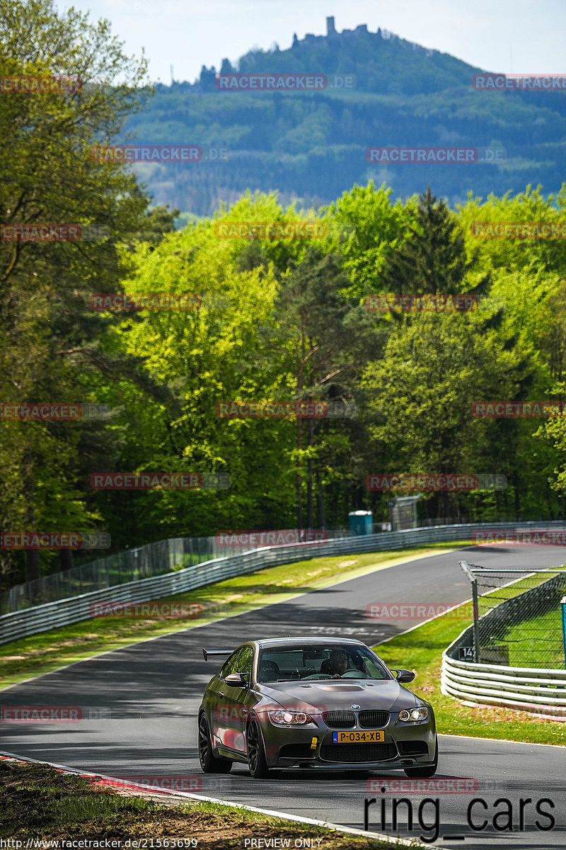
[[[203,606],[203,615],[187,620],[130,620],[98,617],[41,632],[0,644],[0,688],[26,678],[51,672],[59,667],[120,649],[130,643],[156,638],[191,626],[215,621],[227,615],[260,608],[273,602],[284,602],[301,593],[329,587],[344,578],[356,578],[373,570],[383,570],[407,558],[450,551],[470,546],[470,541],[435,543],[427,546],[361,555],[339,555],[334,558],[310,558],[294,564],[283,564],[248,575],[238,575],[216,584],[168,596],[175,602],[193,602]],[[112,598],[109,588],[108,598]],[[214,610],[212,610],[214,609]]]

